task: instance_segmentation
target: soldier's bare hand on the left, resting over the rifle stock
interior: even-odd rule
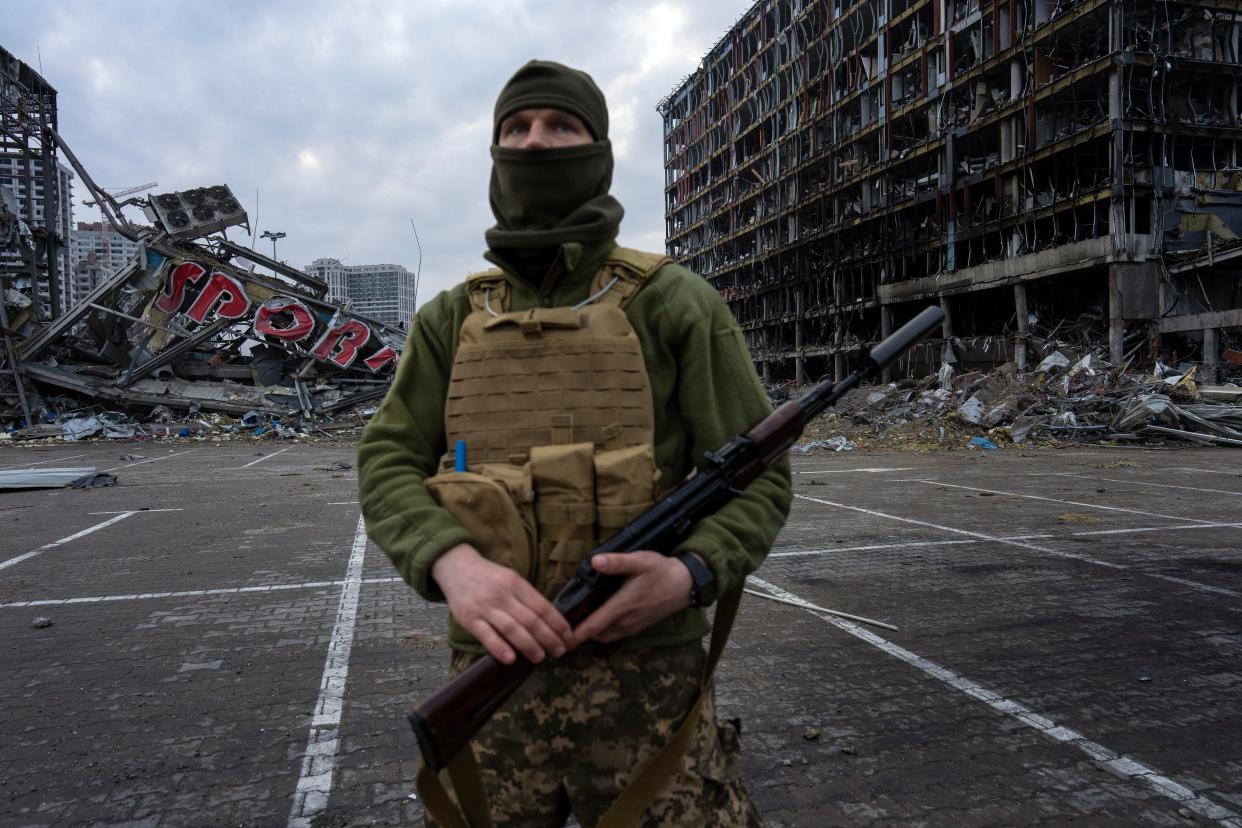
[[[512,664],[517,649],[538,664],[548,653],[559,658],[571,647],[569,622],[551,602],[520,575],[487,560],[469,544],[458,544],[436,559],[431,577],[458,623],[499,662]]]

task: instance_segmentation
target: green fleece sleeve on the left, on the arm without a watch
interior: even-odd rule
[[[448,293],[422,308],[410,329],[396,377],[363,432],[358,494],[368,536],[419,595],[443,601],[431,565],[469,533],[422,482],[445,452],[445,395],[456,335]]]

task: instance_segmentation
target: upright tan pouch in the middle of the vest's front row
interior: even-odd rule
[[[594,546],[594,443],[530,448],[539,549],[532,583],[549,597],[569,581]]]

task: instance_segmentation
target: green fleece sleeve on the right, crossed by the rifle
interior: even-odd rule
[[[687,272],[688,273],[688,272]],[[771,412],[741,329],[719,294],[700,277],[693,282],[692,313],[678,338],[677,402],[689,434],[692,461]],[[710,565],[723,592],[763,564],[785,524],[791,502],[789,458],[782,457],[710,518],[700,520],[676,551],[694,551]]]

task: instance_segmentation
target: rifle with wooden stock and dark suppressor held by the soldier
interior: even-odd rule
[[[863,367],[840,382],[825,380],[776,408],[749,432],[708,452],[705,469],[697,469],[677,489],[591,550],[591,556],[640,549],[669,552],[694,524],[739,495],[784,454],[811,420],[858,382],[879,374],[943,319],[940,308],[927,308],[872,348]],[[587,557],[553,598],[553,606],[576,627],[617,591],[622,580],[596,572]],[[410,725],[427,767],[433,772],[446,767],[534,669],[520,654],[513,664],[484,655],[415,708]]]

